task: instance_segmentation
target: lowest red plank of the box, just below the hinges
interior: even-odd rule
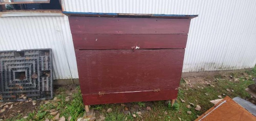
[[[124,103],[136,101],[161,101],[175,99],[178,89],[142,92],[123,92],[99,94],[82,94],[84,105],[108,104],[108,103]]]

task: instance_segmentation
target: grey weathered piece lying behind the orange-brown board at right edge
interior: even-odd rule
[[[233,98],[233,100],[236,101],[236,103],[238,103],[240,106],[242,106],[243,108],[248,110],[251,114],[256,116],[256,105],[254,105],[251,102],[246,101],[240,97],[235,97],[235,98]]]

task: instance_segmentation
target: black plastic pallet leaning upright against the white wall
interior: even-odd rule
[[[53,98],[52,49],[0,51],[0,101]]]

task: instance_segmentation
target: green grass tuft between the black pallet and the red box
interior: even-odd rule
[[[13,117],[11,119],[7,119],[7,121],[45,121],[46,119],[53,119],[54,115],[50,115],[49,110],[55,109],[60,113],[60,118],[64,116],[67,120],[69,116],[72,116],[71,121],[76,121],[77,118],[82,117],[84,113],[84,105],[82,102],[81,97],[81,91],[80,88],[77,87],[77,90],[79,90],[76,93],[73,93],[72,95],[66,94],[66,89],[63,87],[60,87],[57,89],[57,92],[61,92],[58,95],[55,95],[60,99],[61,101],[50,101],[48,104],[41,103],[38,110],[35,110],[32,113],[29,113],[26,119],[23,117],[20,117],[20,115]],[[65,101],[66,97],[70,96],[70,101]],[[20,119],[20,120],[17,120]]]

